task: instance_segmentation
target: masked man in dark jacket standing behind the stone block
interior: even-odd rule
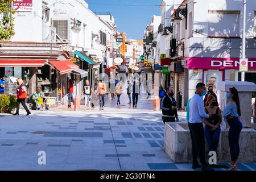
[[[162,109],[163,113],[163,123],[165,122],[175,122],[179,121],[177,116],[177,103],[174,98],[174,89],[168,87],[166,89],[166,96],[164,96],[161,100],[160,108]]]

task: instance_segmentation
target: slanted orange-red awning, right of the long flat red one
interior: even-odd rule
[[[73,69],[79,68],[76,64],[72,63],[69,60],[64,61],[49,61],[49,63],[57,69],[57,71],[60,72],[60,75],[63,75],[65,73],[72,72]]]

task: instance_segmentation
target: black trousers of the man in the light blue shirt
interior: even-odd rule
[[[203,123],[188,123],[192,142],[193,165],[198,164],[197,156],[203,166],[207,166],[205,161],[205,141]]]

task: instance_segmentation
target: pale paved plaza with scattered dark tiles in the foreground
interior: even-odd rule
[[[191,164],[174,164],[164,152],[160,112],[24,114],[0,115],[0,170],[192,170]],[[185,113],[179,115],[185,122]],[[46,152],[46,165],[38,164],[39,151]],[[256,170],[256,164],[243,163],[239,169]]]

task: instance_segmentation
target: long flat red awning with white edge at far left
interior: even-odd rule
[[[0,60],[0,67],[43,67],[46,60]]]

